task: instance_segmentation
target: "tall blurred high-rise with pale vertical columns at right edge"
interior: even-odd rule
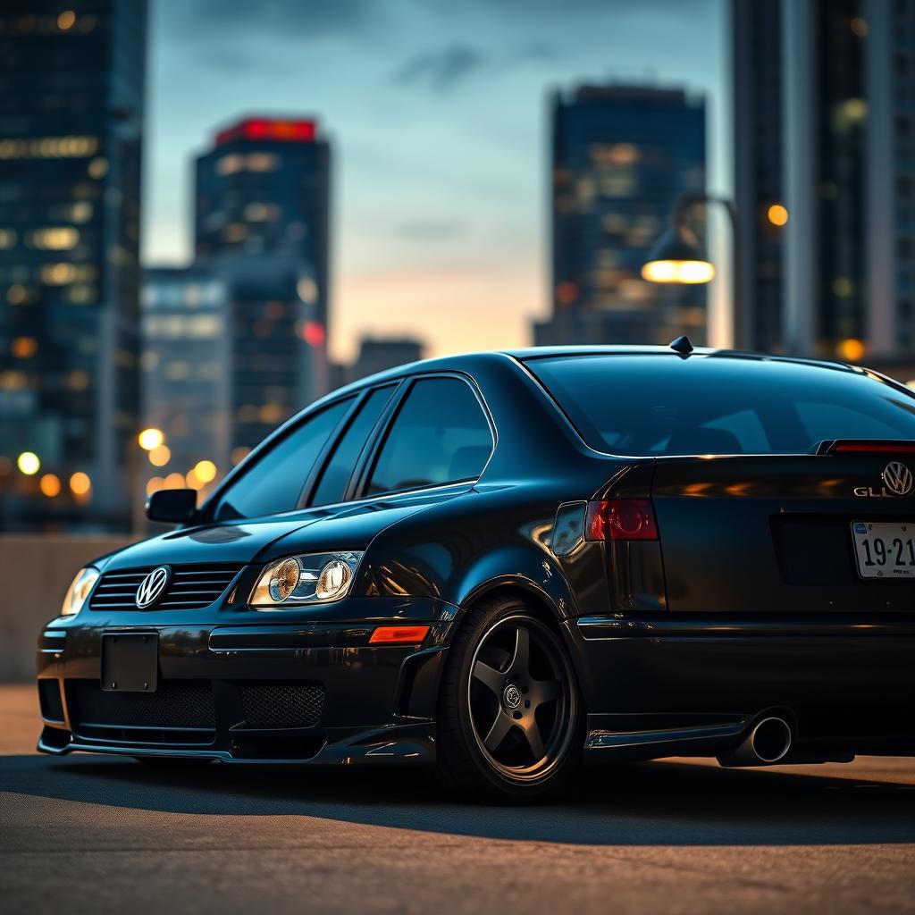
[[[915,0],[733,0],[748,344],[915,347]]]

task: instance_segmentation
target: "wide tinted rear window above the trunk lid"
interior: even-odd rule
[[[611,454],[804,454],[830,438],[915,439],[915,397],[844,369],[673,353],[527,366],[587,444]]]

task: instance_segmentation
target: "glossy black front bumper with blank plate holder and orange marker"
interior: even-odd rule
[[[223,762],[432,761],[452,608],[425,599],[351,603],[361,619],[345,619],[340,605],[320,621],[252,612],[100,619],[88,610],[53,620],[38,646],[38,749]],[[430,625],[423,645],[369,643],[377,625],[404,620]],[[120,633],[158,640],[155,691],[102,690],[103,640]]]

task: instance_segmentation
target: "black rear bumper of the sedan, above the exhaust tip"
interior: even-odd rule
[[[569,630],[591,761],[716,756],[771,713],[794,761],[915,755],[915,615],[612,614]]]

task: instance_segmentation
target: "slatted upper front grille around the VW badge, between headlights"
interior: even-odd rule
[[[91,610],[135,610],[136,589],[153,569],[149,565],[123,572],[106,572],[99,580],[89,601]],[[209,607],[225,593],[242,566],[229,563],[219,565],[173,565],[171,579],[165,594],[150,610],[199,610]]]

